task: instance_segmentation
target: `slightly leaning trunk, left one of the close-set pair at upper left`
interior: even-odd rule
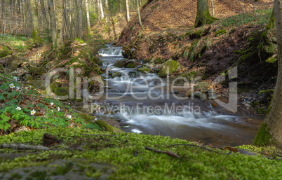
[[[56,28],[56,17],[55,17],[53,0],[48,0],[48,12],[50,16],[51,37],[52,37],[53,47],[55,48],[57,44],[57,28]]]

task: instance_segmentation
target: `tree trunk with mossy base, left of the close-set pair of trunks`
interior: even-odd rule
[[[39,23],[38,23],[38,14],[37,14],[37,6],[36,6],[36,0],[29,0],[30,1],[30,10],[32,13],[32,39],[34,43],[40,43],[40,33],[39,33]]]

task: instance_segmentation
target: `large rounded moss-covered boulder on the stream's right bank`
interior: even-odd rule
[[[161,68],[159,69],[159,76],[161,78],[165,78],[166,76],[170,75],[174,71],[177,71],[180,69],[182,69],[182,66],[180,65],[180,63],[175,62],[174,60],[170,59],[161,65]]]

